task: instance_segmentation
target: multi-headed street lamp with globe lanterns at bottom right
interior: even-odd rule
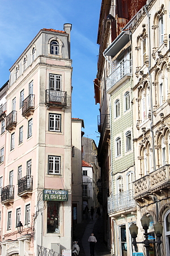
[[[145,240],[143,242],[137,242],[136,238],[137,238],[137,234],[138,234],[138,226],[136,224],[131,224],[130,225],[130,234],[131,237],[133,238],[133,242],[132,244],[134,245],[135,251],[138,251],[137,249],[137,243],[143,243],[145,248],[146,248],[146,256],[150,256],[149,253],[149,247],[150,247],[150,241],[148,240],[148,227],[150,225],[150,218],[145,215],[143,215],[143,217],[141,218],[141,224],[142,227],[145,231],[144,236],[145,236]],[[160,237],[162,237],[162,233],[163,233],[163,226],[162,224],[160,224],[160,222],[156,222],[156,224],[154,225],[154,230],[155,230],[155,234],[156,237],[158,238],[158,241],[153,241],[152,243],[158,243],[158,255],[161,256],[160,254],[160,244],[162,243],[162,241],[160,241]]]

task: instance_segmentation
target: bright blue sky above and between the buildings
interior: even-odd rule
[[[96,44],[101,0],[0,0],[0,87],[10,67],[41,28],[63,30],[71,23],[73,60],[72,116],[84,120],[85,135],[99,142],[93,80],[97,73]]]

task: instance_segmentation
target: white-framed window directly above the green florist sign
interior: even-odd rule
[[[48,156],[48,174],[60,174],[61,156]]]

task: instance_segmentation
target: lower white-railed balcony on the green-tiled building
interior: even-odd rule
[[[134,192],[133,190],[124,191],[114,196],[108,197],[108,213],[120,212],[123,210],[125,212],[130,212],[136,208],[135,200],[133,199]]]

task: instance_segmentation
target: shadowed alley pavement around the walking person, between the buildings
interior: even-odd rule
[[[83,220],[81,224],[75,224],[73,233],[73,241],[78,241],[78,245],[80,246],[79,256],[90,256],[88,237],[91,236],[91,233],[94,233],[97,239],[95,256],[111,256],[111,253],[103,242],[103,220],[101,216],[97,220],[94,214],[94,220],[91,220],[89,213],[88,220]]]

